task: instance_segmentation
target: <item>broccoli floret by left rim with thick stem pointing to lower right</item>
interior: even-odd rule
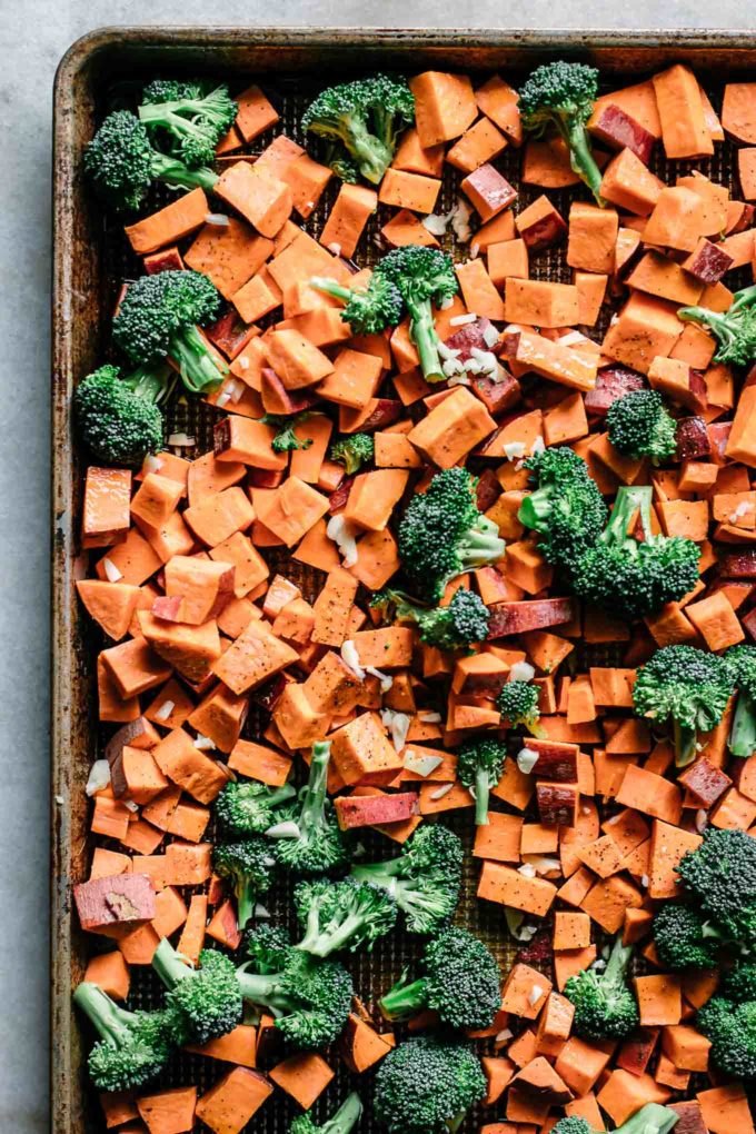
[[[215,285],[201,272],[167,271],[129,284],[113,319],[113,338],[139,364],[170,356],[192,393],[214,390],[228,366],[210,353],[197,330],[220,311]]]

